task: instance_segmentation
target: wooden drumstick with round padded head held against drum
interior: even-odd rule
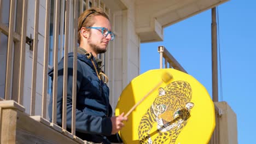
[[[132,112],[133,110],[135,110],[135,108],[136,108],[139,104],[141,104],[144,99],[146,99],[146,98],[148,97],[148,95],[149,95],[150,93],[152,93],[156,88],[158,88],[158,87],[162,84],[162,82],[165,82],[165,83],[166,83],[166,82],[170,81],[172,78],[173,78],[172,75],[169,74],[169,73],[164,73],[164,74],[162,74],[162,81],[160,81],[160,82],[158,83],[158,85],[156,85],[154,88],[152,88],[141,100],[138,101],[137,104],[133,105],[132,108],[126,113],[126,115],[125,115],[124,117],[128,117],[128,116],[131,114],[131,112]]]

